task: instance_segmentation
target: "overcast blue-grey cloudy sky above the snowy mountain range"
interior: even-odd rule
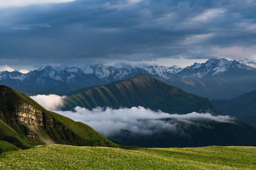
[[[256,0],[1,0],[0,65],[255,59],[255,13]]]

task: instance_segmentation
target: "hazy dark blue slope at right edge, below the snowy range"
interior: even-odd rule
[[[256,126],[256,90],[235,97],[230,101],[214,100],[211,103],[216,110]]]

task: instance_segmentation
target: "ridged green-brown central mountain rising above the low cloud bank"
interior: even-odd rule
[[[63,110],[81,106],[92,109],[97,106],[111,108],[144,106],[166,113],[190,113],[212,110],[211,103],[204,97],[188,94],[183,90],[166,85],[162,81],[141,74],[124,81],[100,85],[72,92],[65,99]]]

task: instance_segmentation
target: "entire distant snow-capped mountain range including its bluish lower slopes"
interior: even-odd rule
[[[0,73],[0,84],[25,94],[65,94],[72,90],[126,80],[147,74],[164,83],[209,99],[232,99],[255,90],[256,62],[253,60],[210,59],[181,68],[178,66],[45,66],[29,73]]]

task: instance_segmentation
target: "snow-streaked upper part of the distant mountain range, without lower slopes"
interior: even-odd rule
[[[0,80],[6,81],[35,81],[38,85],[47,84],[47,81],[59,83],[77,83],[89,82],[93,85],[96,81],[104,83],[105,81],[116,81],[131,78],[138,74],[148,74],[162,80],[172,80],[172,78],[190,78],[199,79],[211,76],[221,76],[227,71],[256,71],[256,61],[227,60],[227,59],[209,59],[204,63],[194,63],[192,66],[181,68],[179,66],[157,66],[140,65],[131,66],[127,63],[119,63],[114,66],[105,66],[104,64],[95,64],[92,66],[81,67],[56,67],[47,65],[22,74],[18,71],[0,72]],[[19,84],[20,82],[15,82]],[[86,85],[84,85],[86,86]]]

